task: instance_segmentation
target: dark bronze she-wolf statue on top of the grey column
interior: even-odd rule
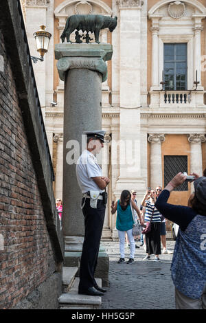
[[[71,43],[70,35],[74,30],[82,30],[82,32],[94,32],[95,43],[100,43],[99,36],[100,30],[108,28],[110,32],[113,32],[117,26],[117,16],[112,18],[111,16],[103,16],[102,14],[73,14],[69,16],[66,21],[65,29],[62,32],[60,38],[62,43],[67,38],[67,43]]]

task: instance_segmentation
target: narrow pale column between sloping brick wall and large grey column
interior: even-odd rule
[[[63,134],[58,133],[53,138],[57,144],[56,148],[56,176],[55,176],[55,199],[62,199],[62,183],[63,183]],[[64,203],[64,201],[63,201]]]

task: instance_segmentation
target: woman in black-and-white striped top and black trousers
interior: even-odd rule
[[[155,254],[155,261],[159,261],[159,254],[161,254],[161,238],[160,225],[161,214],[155,208],[157,200],[157,192],[155,190],[147,190],[141,205],[146,207],[144,221],[151,221],[151,230],[146,234],[146,253],[144,260],[149,260],[151,254]],[[151,220],[152,218],[152,220]]]

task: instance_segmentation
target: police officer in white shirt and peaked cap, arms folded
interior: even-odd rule
[[[83,194],[85,227],[78,293],[91,296],[103,296],[106,291],[98,286],[94,278],[106,208],[105,188],[109,183],[108,177],[102,177],[102,168],[95,156],[104,147],[105,133],[106,131],[84,132],[87,135],[87,149],[83,151],[76,166],[78,184]]]

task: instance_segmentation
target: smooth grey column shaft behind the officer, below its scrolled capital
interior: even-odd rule
[[[65,81],[63,148],[64,214],[67,212],[67,216],[63,218],[65,236],[84,234],[80,209],[82,192],[76,179],[76,161],[81,154],[82,132],[102,128],[101,87],[101,74],[87,69],[69,70]],[[76,157],[74,155],[73,157],[76,160],[73,164],[68,164],[68,154],[73,148],[73,153],[76,152]]]

